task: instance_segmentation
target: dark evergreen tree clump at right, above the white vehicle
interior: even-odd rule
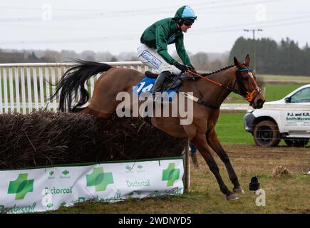
[[[282,39],[280,43],[277,43],[269,38],[253,41],[251,38],[240,37],[234,43],[229,59],[236,56],[244,61],[244,57],[249,54],[252,59],[250,65],[253,67],[253,42],[257,47],[257,73],[310,76],[310,48],[308,44],[304,48],[299,48],[298,43],[289,38]]]

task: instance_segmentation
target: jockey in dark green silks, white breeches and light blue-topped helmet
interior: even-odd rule
[[[192,27],[197,16],[190,6],[182,6],[175,17],[162,19],[143,32],[138,46],[140,61],[156,69],[160,75],[155,81],[153,95],[159,92],[165,80],[171,75],[179,75],[187,70],[195,71],[183,43],[183,32]],[[177,54],[182,63],[177,62],[167,51],[167,45],[175,43]]]

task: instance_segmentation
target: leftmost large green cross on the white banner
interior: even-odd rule
[[[16,194],[15,199],[24,199],[28,192],[33,191],[33,181],[27,180],[28,173],[21,173],[16,180],[10,181],[8,194]]]

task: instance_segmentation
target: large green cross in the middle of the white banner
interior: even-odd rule
[[[113,184],[112,172],[103,172],[102,167],[94,168],[90,175],[86,175],[86,186],[95,186],[95,191],[105,191],[109,184]]]

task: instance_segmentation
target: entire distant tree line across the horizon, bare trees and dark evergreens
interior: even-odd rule
[[[253,39],[240,37],[235,41],[230,53],[189,53],[192,65],[197,71],[214,71],[233,63],[236,56],[240,61],[244,61],[247,54],[250,55],[253,67]],[[300,75],[310,76],[310,48],[308,44],[304,48],[299,48],[298,43],[289,38],[280,43],[269,38],[262,38],[255,41],[257,46],[257,73]],[[172,57],[180,61],[177,53],[172,53]],[[94,52],[83,51],[16,51],[1,50],[0,63],[55,63],[68,62],[74,58],[81,58],[86,61],[115,62],[115,61],[138,61],[137,53],[123,52],[117,56],[108,51]]]

